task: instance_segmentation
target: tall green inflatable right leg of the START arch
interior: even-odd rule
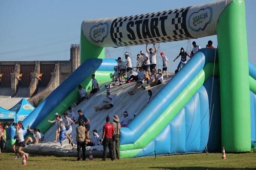
[[[221,141],[227,152],[251,150],[245,3],[233,0],[217,23]]]

